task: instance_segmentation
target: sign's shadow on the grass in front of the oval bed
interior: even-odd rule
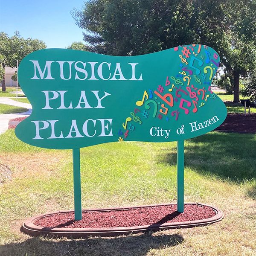
[[[155,234],[155,235],[154,235]],[[151,249],[164,249],[180,244],[178,234],[160,235],[143,233],[116,238],[90,238],[83,240],[58,240],[32,238],[21,243],[0,246],[1,256],[143,256]]]

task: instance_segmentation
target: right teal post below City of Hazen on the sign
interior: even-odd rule
[[[177,211],[184,212],[184,140],[177,141]]]

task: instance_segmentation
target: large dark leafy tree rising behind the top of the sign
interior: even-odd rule
[[[234,76],[239,101],[240,76],[254,66],[248,57],[256,16],[250,12],[256,13],[255,0],[89,0],[72,14],[93,52],[140,55],[192,43],[214,48]]]

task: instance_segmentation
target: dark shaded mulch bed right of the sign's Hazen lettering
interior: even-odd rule
[[[244,114],[228,113],[225,121],[216,130],[256,133],[256,114],[244,116]]]

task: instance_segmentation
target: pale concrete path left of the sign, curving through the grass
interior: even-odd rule
[[[10,119],[17,117],[29,116],[32,113],[32,106],[29,103],[17,102],[15,100],[0,97],[0,104],[12,105],[21,108],[28,108],[29,110],[23,113],[15,114],[2,114],[0,115],[0,134],[4,133],[8,129],[8,123]]]

